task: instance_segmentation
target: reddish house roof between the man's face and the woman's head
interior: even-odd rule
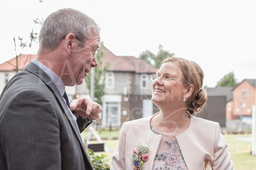
[[[102,66],[108,66],[108,71],[125,71],[135,73],[156,73],[157,68],[152,67],[144,60],[133,56],[117,56],[110,52],[108,48],[102,46],[104,52]]]

